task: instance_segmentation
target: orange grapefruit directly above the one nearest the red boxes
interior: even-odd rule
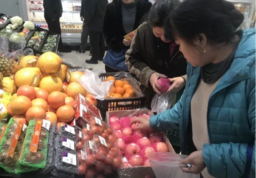
[[[59,108],[65,104],[65,96],[62,92],[52,92],[48,97],[48,103],[52,108]]]

